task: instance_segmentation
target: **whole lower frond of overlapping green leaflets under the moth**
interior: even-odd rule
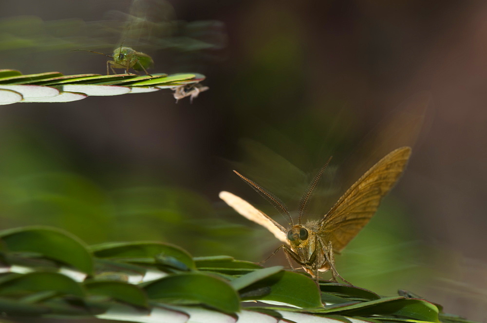
[[[228,322],[229,315],[233,322],[246,322],[250,310],[254,320],[264,318],[258,315],[262,313],[293,322],[313,317],[425,323],[446,317],[448,322],[468,322],[409,291],[380,297],[355,286],[313,281],[281,266],[262,268],[229,256],[192,258],[160,242],[88,247],[68,232],[46,226],[0,231],[0,240],[0,308],[14,320]],[[260,302],[243,311],[242,301]],[[204,320],[198,319],[201,311]]]

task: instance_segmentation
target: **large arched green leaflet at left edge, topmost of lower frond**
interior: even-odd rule
[[[2,247],[9,252],[34,252],[60,261],[81,272],[93,273],[93,257],[74,235],[57,228],[32,226],[0,232]]]

